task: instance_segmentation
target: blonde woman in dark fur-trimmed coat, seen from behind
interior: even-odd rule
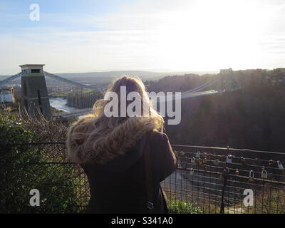
[[[113,113],[122,113],[121,88],[138,93],[141,114],[108,116],[106,99],[118,94]],[[111,93],[112,94],[112,93]],[[113,100],[114,101],[114,100]],[[147,115],[145,115],[147,110]],[[68,129],[68,157],[81,165],[90,184],[91,213],[167,213],[160,182],[177,168],[177,158],[163,133],[164,120],[151,105],[145,86],[137,78],[123,76],[112,83],[92,115],[85,115]]]

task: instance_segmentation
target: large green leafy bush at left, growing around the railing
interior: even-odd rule
[[[36,138],[13,116],[0,115],[0,213],[82,212],[88,199],[79,197],[84,184],[80,170],[52,163],[63,160],[56,147],[17,145]],[[40,192],[39,207],[29,204],[32,189]]]

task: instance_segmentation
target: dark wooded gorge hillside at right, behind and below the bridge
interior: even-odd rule
[[[279,80],[283,74],[252,70],[234,75],[242,90],[182,100],[180,125],[165,127],[172,143],[284,151],[285,85]],[[163,78],[150,83],[148,90],[160,90],[165,81],[167,91],[195,88],[209,76],[191,77]]]

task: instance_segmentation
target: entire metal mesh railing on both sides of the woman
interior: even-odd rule
[[[24,191],[38,187],[43,192],[46,204],[39,212],[85,212],[90,198],[88,180],[79,165],[66,159],[65,142],[6,144],[2,148],[6,165],[1,165],[1,173],[11,175],[8,184],[14,186],[26,178]],[[187,145],[172,148],[179,167],[161,183],[170,212],[285,213],[284,153]],[[12,159],[10,154],[19,158]],[[17,176],[19,169],[24,172],[21,177]],[[4,193],[1,212],[14,200],[5,198]],[[19,203],[28,202],[28,197],[19,199],[16,212],[38,212],[19,207]]]

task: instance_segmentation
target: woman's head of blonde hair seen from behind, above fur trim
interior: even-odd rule
[[[114,97],[118,100],[113,100]],[[114,105],[117,103],[118,105]],[[113,113],[118,114],[117,116],[106,115],[110,107]],[[162,116],[152,108],[152,102],[147,95],[144,83],[140,78],[130,76],[118,78],[108,86],[104,99],[94,104],[93,114],[98,120],[103,120],[103,122],[108,120],[109,123],[113,123],[112,125],[118,125],[134,116],[152,118],[157,123],[157,128],[162,129],[164,125]]]

